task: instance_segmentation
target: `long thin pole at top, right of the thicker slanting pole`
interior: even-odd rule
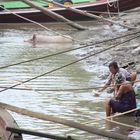
[[[101,16],[97,16],[95,14],[88,13],[87,11],[82,11],[82,10],[79,10],[79,9],[76,9],[76,8],[72,8],[70,6],[65,6],[65,5],[60,4],[58,2],[54,2],[54,1],[51,1],[51,0],[44,0],[44,1],[53,3],[54,5],[57,5],[59,7],[65,8],[65,9],[67,9],[69,11],[73,11],[75,13],[78,13],[78,14],[81,14],[81,15],[84,15],[84,16],[87,16],[87,17],[90,17],[90,18],[104,20],[104,21],[107,21],[107,22],[110,22],[110,23],[113,23],[113,24],[117,24],[117,25],[120,25],[120,26],[128,28],[128,29],[136,29],[136,27],[130,27],[130,26],[127,26],[127,25],[124,25],[124,24],[121,24],[121,23],[117,23],[117,22],[115,22],[113,20],[106,19],[106,18],[103,18]]]

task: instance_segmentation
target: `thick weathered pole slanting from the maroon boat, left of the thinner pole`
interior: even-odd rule
[[[42,6],[37,6],[37,5],[35,5],[33,2],[31,2],[31,1],[29,1],[29,0],[22,0],[22,1],[25,2],[26,4],[30,5],[31,7],[34,7],[34,8],[36,8],[36,9],[40,10],[40,11],[43,12],[45,15],[50,16],[50,17],[52,17],[53,19],[56,19],[56,20],[58,20],[58,21],[63,21],[63,22],[65,22],[66,24],[68,24],[68,25],[70,25],[70,26],[72,26],[72,27],[74,27],[74,28],[76,28],[76,29],[78,29],[78,30],[85,30],[85,29],[87,29],[86,27],[83,27],[83,26],[81,26],[81,25],[79,25],[79,24],[77,24],[77,23],[74,23],[74,22],[72,22],[72,21],[70,21],[70,20],[64,18],[63,16],[61,16],[61,15],[59,15],[59,14],[56,14],[55,12],[53,12],[53,11],[47,9],[47,8],[44,8],[44,7],[42,7]],[[38,18],[39,18],[39,17],[38,17]]]

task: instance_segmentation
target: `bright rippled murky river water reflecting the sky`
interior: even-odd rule
[[[27,61],[66,49],[72,49],[77,44],[40,44],[33,47],[32,44],[24,42],[29,39],[36,30],[34,28],[20,29],[1,29],[0,31],[0,67]],[[46,31],[38,30],[38,33]],[[63,31],[65,34],[66,32]],[[88,35],[95,36],[93,31],[85,31],[79,33],[71,33],[73,37],[85,38]],[[96,35],[96,38],[98,36]],[[95,38],[95,39],[96,39]],[[76,54],[83,53],[87,50],[76,51]],[[80,123],[87,123],[97,128],[105,128],[105,121],[94,121],[105,117],[102,103],[106,96],[94,97],[91,90],[87,91],[57,91],[72,88],[86,88],[99,85],[101,82],[98,78],[103,73],[99,70],[97,63],[92,64],[92,69],[88,71],[88,67],[84,61],[75,63],[63,69],[51,72],[54,69],[67,65],[78,60],[79,57],[75,52],[68,52],[44,59],[38,59],[20,65],[14,65],[4,69],[0,69],[0,86],[9,87],[21,81],[26,81],[38,75],[42,75],[37,79],[19,85],[17,88],[27,88],[30,90],[9,89],[0,94],[0,101],[12,104],[18,107],[26,108],[32,111],[54,115]],[[96,57],[94,57],[96,59]],[[91,66],[91,65],[90,65]],[[98,67],[98,69],[97,69]],[[105,69],[105,68],[101,68]],[[46,74],[45,74],[46,73]],[[38,91],[40,90],[40,91]],[[31,129],[45,133],[52,133],[61,136],[71,135],[80,140],[93,140],[106,138],[69,128],[60,124],[42,121],[27,116],[12,113],[21,128]],[[24,139],[38,139],[34,136],[24,136]],[[43,138],[39,138],[43,139]]]

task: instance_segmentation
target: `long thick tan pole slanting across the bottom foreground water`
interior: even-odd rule
[[[83,125],[83,124],[80,124],[80,123],[77,123],[77,122],[74,122],[71,120],[66,120],[66,119],[55,117],[52,115],[46,115],[43,113],[29,111],[27,109],[19,108],[19,107],[13,106],[13,105],[5,104],[5,103],[0,103],[0,107],[5,108],[5,109],[10,110],[10,111],[13,111],[13,112],[16,112],[16,113],[20,113],[22,115],[27,115],[27,116],[42,119],[45,121],[51,121],[54,123],[67,125],[67,126],[70,126],[73,128],[77,128],[77,129],[87,131],[87,132],[92,133],[92,134],[101,135],[104,137],[120,139],[120,140],[133,140],[132,138],[127,137],[127,136],[122,135],[122,134],[117,134],[117,133],[105,131],[102,129],[93,128],[91,126]]]

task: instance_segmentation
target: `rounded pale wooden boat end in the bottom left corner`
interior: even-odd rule
[[[1,140],[22,140],[20,134],[12,134],[6,130],[6,127],[18,128],[13,117],[4,109],[0,108],[0,139]]]

